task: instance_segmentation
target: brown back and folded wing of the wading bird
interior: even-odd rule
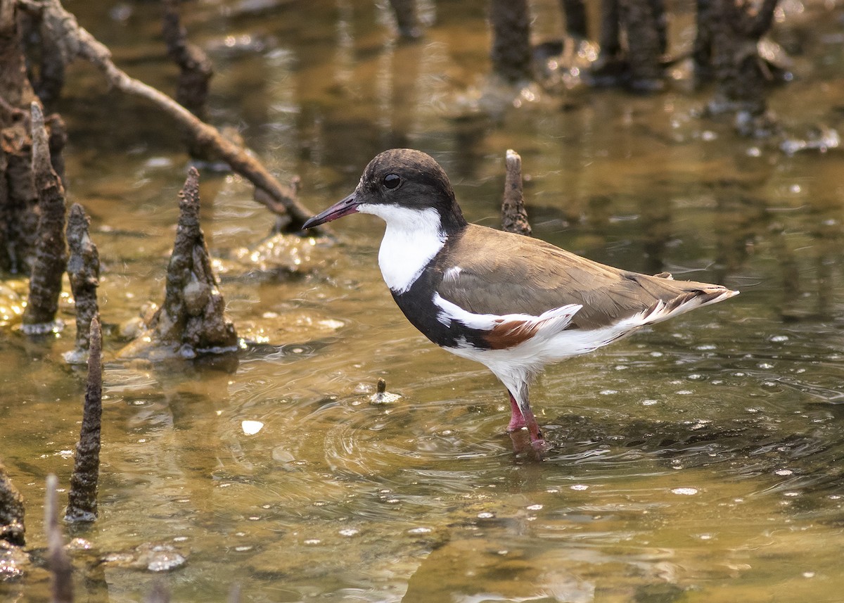
[[[446,243],[441,258],[441,265],[460,270],[444,271],[440,295],[469,312],[538,316],[576,303],[583,308],[572,326],[580,329],[602,327],[660,301],[679,305],[727,291],[720,285],[615,269],[538,239],[473,224]]]

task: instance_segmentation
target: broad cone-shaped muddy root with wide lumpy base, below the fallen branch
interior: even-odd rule
[[[236,349],[235,327],[225,318],[225,301],[219,292],[199,226],[199,172],[196,168],[188,172],[180,196],[179,224],[167,266],[164,303],[150,320],[149,332],[127,345],[121,356],[193,357],[203,352]]]

